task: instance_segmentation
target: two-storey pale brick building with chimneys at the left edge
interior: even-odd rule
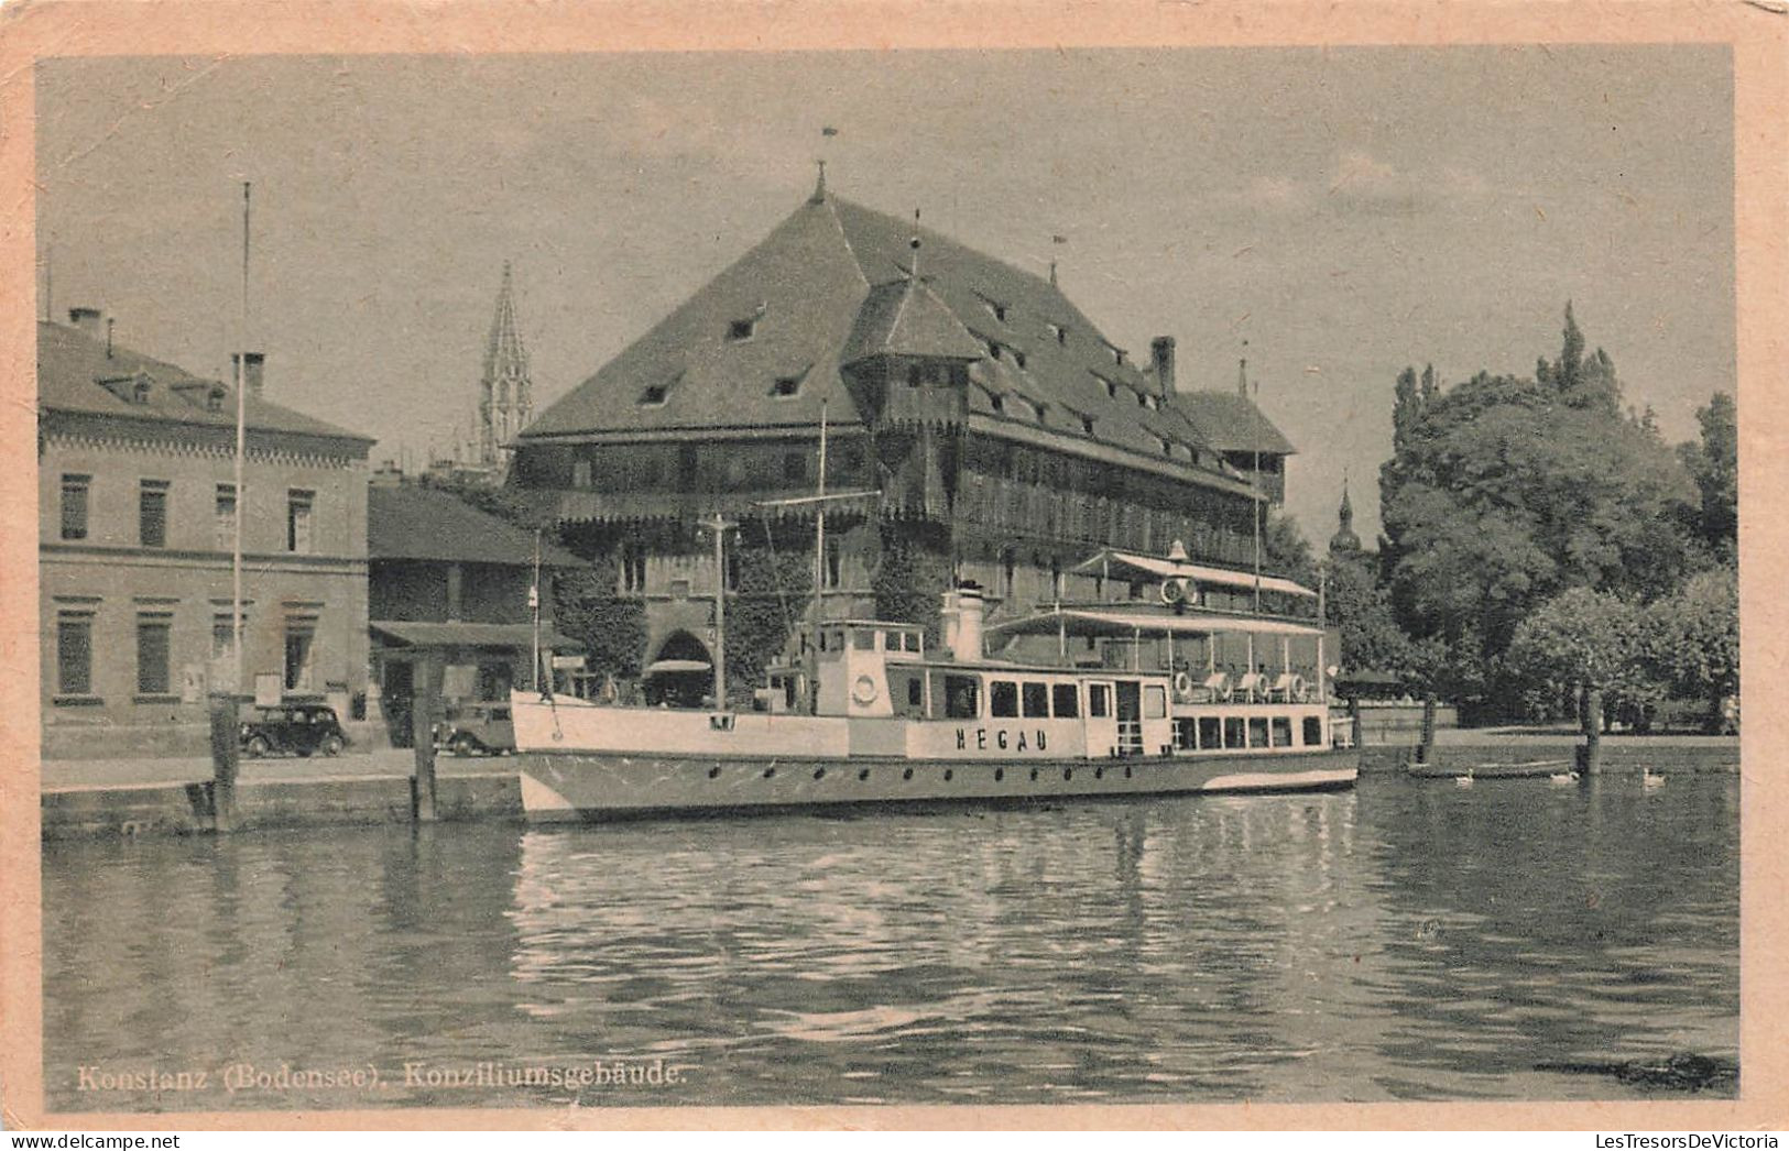
[[[370,440],[268,402],[250,354],[238,491],[234,388],[114,347],[95,309],[70,320],[38,327],[45,754],[206,722],[234,681],[238,515],[242,690],[277,679],[347,718],[367,688]]]

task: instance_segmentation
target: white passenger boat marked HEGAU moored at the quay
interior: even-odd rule
[[[959,586],[945,593],[945,652],[927,651],[916,624],[828,620],[801,660],[771,668],[750,711],[517,692],[528,819],[1352,786],[1358,751],[1331,718],[1320,611],[1213,606],[1225,581],[1251,577],[1179,547],[1090,563],[1154,595],[984,627],[980,590]],[[1259,576],[1254,588],[1259,602]],[[723,660],[714,701],[726,699]]]

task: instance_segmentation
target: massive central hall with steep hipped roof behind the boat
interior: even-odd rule
[[[932,622],[952,577],[993,618],[1098,599],[1072,568],[1107,545],[1247,568],[1292,445],[1247,397],[1179,390],[1172,338],[1140,359],[1052,281],[821,182],[526,427],[512,484],[644,606],[642,661],[676,668],[710,652],[717,579],[742,608],[776,597],[780,647],[809,572],[828,618]],[[821,483],[864,495],[823,504],[814,563],[821,504],[787,500]],[[699,525],[717,511],[741,524],[726,572]]]

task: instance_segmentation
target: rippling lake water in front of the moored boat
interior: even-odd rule
[[[1648,1088],[1537,1065],[1739,1046],[1737,776],[55,844],[43,872],[54,1110],[1608,1099]]]

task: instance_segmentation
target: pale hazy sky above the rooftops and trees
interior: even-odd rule
[[[1732,105],[1719,45],[59,59],[39,293],[206,375],[265,349],[270,399],[415,465],[471,434],[503,261],[542,411],[825,155],[841,197],[1054,254],[1116,343],[1177,338],[1183,390],[1247,356],[1288,511],[1324,543],[1347,477],[1372,540],[1406,365],[1531,374],[1571,300],[1669,440],[1735,390]]]

